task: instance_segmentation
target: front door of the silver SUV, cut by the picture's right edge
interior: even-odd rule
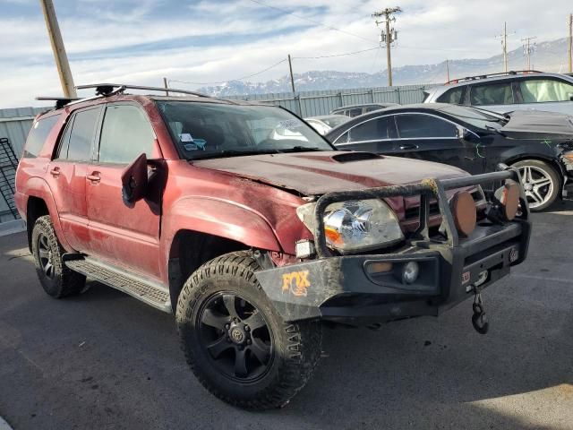
[[[517,80],[521,109],[573,114],[573,83],[556,78],[527,77]]]

